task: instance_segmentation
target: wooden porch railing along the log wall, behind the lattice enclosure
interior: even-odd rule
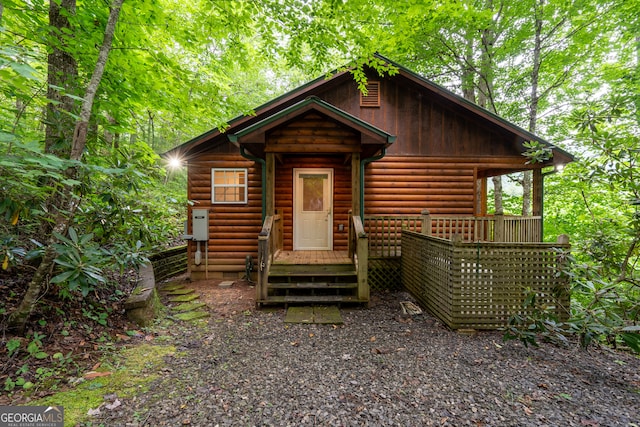
[[[463,242],[536,243],[542,241],[542,218],[539,216],[445,216],[424,211],[413,216],[374,216],[364,218],[369,236],[369,254],[379,257],[401,255],[402,230]]]

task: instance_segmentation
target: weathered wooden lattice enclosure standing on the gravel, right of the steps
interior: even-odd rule
[[[453,329],[495,329],[513,314],[526,314],[527,296],[569,313],[569,290],[561,266],[570,245],[468,243],[402,233],[402,283],[420,304]],[[565,239],[566,238],[566,239]]]

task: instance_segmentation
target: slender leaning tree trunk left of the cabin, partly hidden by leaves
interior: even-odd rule
[[[64,2],[65,0],[62,1]],[[120,15],[122,2],[123,0],[113,0],[111,6],[111,12],[109,14],[107,26],[105,28],[104,40],[100,48],[98,60],[96,62],[93,74],[91,75],[89,86],[87,87],[85,96],[83,98],[84,100],[80,109],[80,116],[73,131],[73,140],[70,154],[70,158],[72,160],[80,160],[82,158],[82,153],[87,141],[87,128],[89,125],[89,119],[91,118],[93,100],[95,99],[98,85],[100,84],[102,74],[104,73],[104,69],[107,64],[107,58],[109,56],[109,51],[111,50],[113,34],[115,32],[118,16]],[[56,2],[54,1],[51,2],[51,4],[55,3]],[[70,176],[74,176],[75,171],[68,171],[68,174]],[[74,199],[72,191],[73,190],[71,187],[65,186],[62,189],[62,196],[57,199],[61,209],[58,209],[56,211],[57,221],[55,222],[56,225],[53,229],[53,232],[64,234],[73,218],[73,214],[78,206],[78,202]],[[65,207],[66,209],[68,209],[66,210],[66,212],[64,209]],[[65,212],[66,215],[63,216],[63,212]],[[11,313],[8,319],[8,327],[10,329],[15,329],[20,334],[24,333],[27,320],[29,319],[31,312],[33,311],[33,308],[35,307],[40,297],[42,285],[47,279],[47,276],[50,274],[54,265],[54,260],[56,257],[54,244],[57,243],[57,239],[53,232],[49,234],[44,256],[42,258],[42,261],[40,262],[40,265],[38,266],[38,269],[36,270],[36,273],[32,277],[31,282],[29,282],[29,286],[27,288],[25,296],[20,302],[20,305],[13,313]]]

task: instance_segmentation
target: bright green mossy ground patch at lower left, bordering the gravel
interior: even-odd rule
[[[64,408],[65,426],[75,426],[88,421],[87,412],[105,403],[104,396],[116,394],[118,398],[132,397],[146,391],[164,366],[164,357],[175,354],[174,346],[141,344],[122,350],[115,360],[103,364],[100,371],[109,375],[82,382],[73,389],[31,402],[31,405]],[[109,366],[111,365],[111,366]]]

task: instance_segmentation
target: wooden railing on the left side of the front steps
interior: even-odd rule
[[[267,299],[269,269],[278,252],[282,250],[282,237],[282,215],[277,213],[267,216],[258,235],[258,286],[256,287],[258,301]]]

